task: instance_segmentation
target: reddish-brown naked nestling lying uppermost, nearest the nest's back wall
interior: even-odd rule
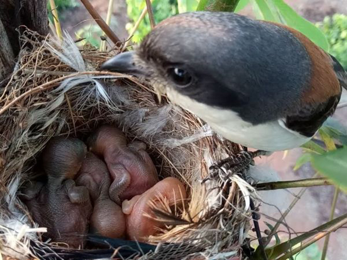
[[[142,142],[126,143],[124,134],[116,127],[102,126],[88,140],[89,149],[104,157],[112,177],[110,198],[118,205],[153,187],[158,174]]]

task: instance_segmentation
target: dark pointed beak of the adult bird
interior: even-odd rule
[[[142,71],[135,65],[134,52],[120,53],[105,61],[100,69],[132,75],[145,75],[145,71]]]

